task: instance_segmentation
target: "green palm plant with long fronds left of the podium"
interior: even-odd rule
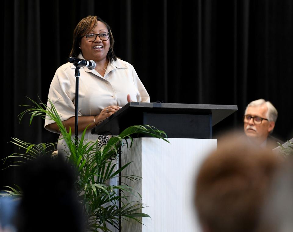
[[[69,148],[67,160],[77,170],[78,179],[76,180],[75,188],[88,218],[89,231],[96,231],[97,229],[111,231],[107,225],[110,224],[115,228],[119,228],[119,220],[135,220],[141,223],[141,217],[150,217],[141,213],[142,203],[128,201],[128,196],[137,195],[138,198],[140,197],[138,193],[133,191],[131,186],[124,183],[111,185],[109,181],[121,176],[122,170],[130,165],[130,163],[127,163],[118,168],[117,160],[119,152],[121,152],[121,146],[127,146],[128,149],[132,146],[132,134],[147,134],[168,142],[163,131],[148,125],[128,127],[120,135],[111,137],[107,145],[99,149],[97,141],[85,141],[85,129],[81,138],[77,141],[77,146],[75,146],[74,138],[71,136],[71,129],[69,129],[69,132],[66,131],[52,102],[49,100],[50,106],[47,106],[42,102],[31,101],[33,105],[23,105],[28,109],[20,113],[19,119],[21,120],[24,114],[30,113],[30,124],[35,116],[41,116],[42,118],[48,117],[54,120],[58,125],[60,133]],[[126,140],[127,138],[130,139],[129,143]],[[21,165],[40,155],[51,155],[56,147],[56,143],[34,145],[20,141],[17,138],[13,138],[12,142],[19,148],[23,148],[24,152],[8,156],[5,161],[12,157],[17,158],[11,165]],[[140,180],[140,177],[133,175],[124,175],[123,177],[132,181]],[[20,187],[17,186],[18,190],[12,187],[8,188],[9,190],[5,191],[6,195],[21,196]]]

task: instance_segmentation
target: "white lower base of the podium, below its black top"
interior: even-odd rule
[[[135,138],[127,152],[123,147],[122,165],[132,162],[122,173],[142,177],[132,186],[146,206],[143,224],[122,221],[122,232],[201,231],[193,207],[194,181],[203,159],[217,148],[216,139],[169,138],[170,144],[157,138]]]

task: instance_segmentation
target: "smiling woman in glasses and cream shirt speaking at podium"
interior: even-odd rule
[[[85,139],[99,145],[107,143],[107,135],[91,134],[92,127],[103,121],[128,102],[150,102],[150,97],[139,80],[133,66],[114,55],[114,38],[110,27],[98,16],[87,16],[74,29],[70,56],[96,62],[95,69],[80,68],[78,136],[88,126]],[[58,111],[61,120],[74,134],[75,122],[75,66],[60,66],[53,77],[48,98]],[[48,102],[48,105],[50,103]],[[45,128],[59,133],[53,120],[45,120]],[[62,135],[60,135],[60,138]],[[66,146],[59,141],[58,152]]]

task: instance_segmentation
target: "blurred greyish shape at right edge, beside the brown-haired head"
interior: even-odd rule
[[[268,192],[258,232],[293,231],[293,150]]]

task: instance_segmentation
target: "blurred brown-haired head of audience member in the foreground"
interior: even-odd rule
[[[253,231],[279,162],[271,151],[252,149],[240,140],[218,143],[196,180],[195,205],[203,231]]]

